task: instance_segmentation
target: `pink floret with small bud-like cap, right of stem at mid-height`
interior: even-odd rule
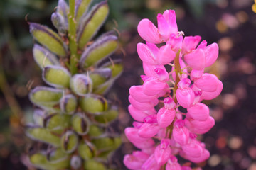
[[[178,89],[176,91],[176,98],[178,103],[183,108],[190,108],[193,105],[195,94],[193,90],[189,87],[191,80],[188,78],[181,79],[178,83]]]

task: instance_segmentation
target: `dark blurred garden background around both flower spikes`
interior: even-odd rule
[[[142,18],[156,23],[156,14],[175,9],[178,30],[201,35],[208,44],[218,42],[218,61],[208,69],[223,81],[222,94],[207,101],[215,126],[200,136],[211,157],[198,166],[203,169],[256,169],[256,5],[252,0],[108,0],[110,16],[100,31],[118,30],[120,48],[115,54],[124,72],[110,93],[120,102],[114,128],[123,132],[132,125],[127,112],[129,87],[142,84],[142,62],[136,45]],[[31,120],[33,105],[28,89],[43,84],[41,69],[33,61],[33,39],[27,21],[53,28],[50,15],[55,0],[0,1],[0,169],[28,169],[26,153],[32,144],[23,129]],[[26,21],[27,20],[27,21]],[[21,122],[21,123],[20,123]],[[124,154],[134,147],[122,133],[124,144],[113,157],[119,169]]]

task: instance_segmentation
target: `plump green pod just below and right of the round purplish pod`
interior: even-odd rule
[[[107,100],[99,95],[87,95],[80,99],[80,107],[86,113],[100,114],[107,111]]]

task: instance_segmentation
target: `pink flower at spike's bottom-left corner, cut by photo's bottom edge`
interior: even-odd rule
[[[132,170],[141,169],[142,165],[149,158],[149,154],[141,151],[134,151],[132,154],[127,154],[124,156],[124,164],[127,168]]]

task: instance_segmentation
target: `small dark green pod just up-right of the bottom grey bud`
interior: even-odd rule
[[[78,153],[82,159],[92,159],[96,154],[95,146],[90,142],[80,142],[78,145]]]

